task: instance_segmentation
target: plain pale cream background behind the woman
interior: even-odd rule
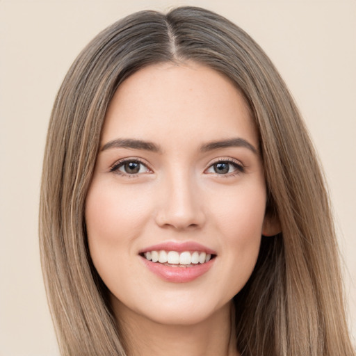
[[[84,45],[136,10],[195,5],[265,49],[330,185],[356,336],[356,0],[0,0],[0,355],[58,355],[42,284],[38,196],[51,105]]]

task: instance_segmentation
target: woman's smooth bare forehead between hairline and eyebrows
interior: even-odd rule
[[[170,136],[182,144],[196,137],[229,138],[230,133],[258,145],[250,108],[234,83],[197,63],[161,63],[139,70],[119,86],[102,140]]]

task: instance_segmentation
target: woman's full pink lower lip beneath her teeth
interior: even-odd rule
[[[167,282],[173,283],[186,283],[196,280],[198,277],[204,275],[204,273],[207,273],[215,261],[215,259],[211,259],[204,264],[193,264],[189,267],[171,267],[166,266],[165,264],[149,261],[143,257],[142,259],[145,266],[152,273],[158,275],[161,279]]]

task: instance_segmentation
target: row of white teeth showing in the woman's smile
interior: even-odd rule
[[[177,251],[147,251],[144,253],[146,259],[152,262],[159,262],[161,264],[204,264],[209,262],[211,259],[211,254],[207,254],[205,252],[197,252],[193,253],[189,251],[177,252]]]

